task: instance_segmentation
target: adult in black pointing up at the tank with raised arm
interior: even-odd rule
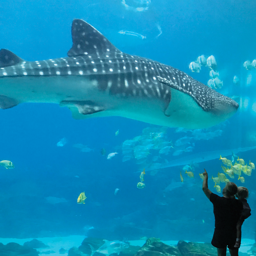
[[[238,248],[234,247],[236,244],[236,223],[243,210],[243,204],[235,199],[237,186],[233,182],[228,182],[222,190],[223,197],[220,197],[208,189],[206,171],[203,175],[203,191],[213,204],[215,217],[212,245],[217,248],[218,256],[226,256],[227,246],[231,256],[238,256]]]

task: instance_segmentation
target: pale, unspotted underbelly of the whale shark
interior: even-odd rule
[[[171,89],[172,98],[166,110],[166,102],[162,98],[111,95],[109,88],[99,91],[96,80],[81,79],[80,76],[6,77],[0,79],[0,90],[1,95],[19,103],[60,104],[62,101],[90,100],[104,108],[104,111],[94,114],[81,114],[80,118],[123,116],[150,124],[190,129],[203,128],[202,123],[209,127],[227,118],[205,112],[190,96],[174,89]]]

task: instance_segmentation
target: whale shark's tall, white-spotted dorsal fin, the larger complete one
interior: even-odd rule
[[[108,39],[103,36],[97,29],[93,28],[84,20],[73,20],[72,23],[72,41],[73,46],[68,51],[69,57],[81,55],[110,55],[120,52]]]

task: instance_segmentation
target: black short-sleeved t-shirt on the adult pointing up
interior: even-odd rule
[[[237,199],[220,197],[214,193],[210,195],[215,216],[215,228],[236,230],[236,223],[243,210],[242,202]]]

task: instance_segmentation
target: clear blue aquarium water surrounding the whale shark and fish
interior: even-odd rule
[[[256,145],[256,139],[252,139],[256,134],[252,110],[256,72],[244,69],[243,63],[256,58],[255,8],[255,1],[152,0],[148,10],[136,12],[125,9],[120,0],[0,0],[0,48],[29,61],[64,57],[72,46],[72,20],[83,19],[121,51],[171,65],[204,84],[209,79],[208,68],[192,73],[188,65],[199,55],[214,55],[223,80],[223,88],[218,91],[229,97],[239,96],[239,103],[248,99],[248,107],[240,104],[235,116],[212,128],[222,130],[221,136],[193,141],[193,152],[186,156],[251,147]],[[163,31],[158,38],[157,24]],[[147,38],[122,35],[120,30]],[[252,81],[248,84],[250,74]],[[233,84],[234,75],[240,78],[239,86]],[[88,235],[137,240],[153,236],[163,240],[211,241],[212,204],[204,196],[198,173],[206,168],[210,177],[216,177],[221,172],[220,160],[198,164],[193,180],[182,171],[184,184],[167,192],[164,189],[172,180],[180,182],[183,166],[161,169],[155,175],[146,168],[146,187],[138,189],[143,166],[137,165],[135,159],[122,162],[122,143],[156,125],[122,117],[74,120],[68,108],[42,103],[23,103],[1,110],[0,119],[0,160],[10,160],[15,165],[14,169],[0,170],[0,237]],[[174,142],[185,135],[168,128],[165,138]],[[62,138],[67,139],[67,144],[57,147]],[[77,143],[93,150],[81,152],[73,147]],[[119,154],[107,160],[100,153],[102,148],[106,149],[106,156],[111,152]],[[255,150],[239,157],[247,164],[249,160],[256,162]],[[171,161],[177,157],[170,153],[166,158]],[[244,176],[244,184],[237,175],[234,181],[250,191],[252,216],[244,222],[242,236],[254,239],[255,173]],[[217,193],[213,185],[210,180],[209,188]],[[115,196],[116,188],[120,191]],[[86,203],[77,204],[83,191]],[[65,198],[67,202],[51,204],[46,199],[49,196]],[[94,228],[88,231],[90,227]]]

